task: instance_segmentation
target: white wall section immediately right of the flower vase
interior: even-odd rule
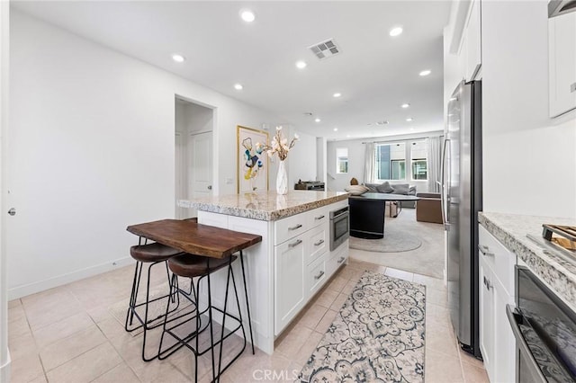
[[[316,180],[316,137],[296,132],[300,139],[288,155],[288,189],[293,190],[298,180]],[[275,184],[275,183],[274,183]],[[272,187],[272,185],[271,185]]]

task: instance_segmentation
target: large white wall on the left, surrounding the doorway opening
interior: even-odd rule
[[[130,224],[175,213],[175,95],[216,108],[214,191],[236,182],[236,126],[279,120],[13,10],[7,227],[14,298],[128,258]]]

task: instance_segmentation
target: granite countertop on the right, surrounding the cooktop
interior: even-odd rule
[[[478,221],[576,309],[576,258],[568,260],[559,254],[547,251],[545,245],[542,245],[547,241],[540,239],[542,224],[574,226],[576,220],[481,212]],[[541,244],[528,238],[528,234],[536,237]]]

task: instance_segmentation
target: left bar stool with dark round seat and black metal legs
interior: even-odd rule
[[[140,243],[141,243],[141,238],[140,238]],[[166,294],[166,295],[163,295],[163,296],[157,297],[157,298],[153,298],[150,300],[150,297],[149,297],[149,294],[150,294],[150,272],[151,272],[153,266],[155,266],[159,263],[164,263],[164,265],[166,267],[167,281],[168,281],[168,284],[170,284],[170,272],[168,271],[168,266],[167,266],[166,261],[168,259],[170,259],[171,257],[178,255],[178,254],[183,254],[183,253],[179,250],[172,248],[172,247],[169,247],[166,245],[161,245],[158,243],[135,245],[135,246],[130,247],[130,256],[136,260],[136,268],[134,270],[134,280],[132,281],[132,289],[130,292],[130,303],[129,303],[128,311],[126,313],[126,322],[124,324],[124,329],[130,333],[134,330],[138,330],[139,328],[142,328],[143,333],[144,333],[143,334],[143,340],[142,340],[142,360],[143,361],[153,361],[154,359],[157,358],[157,353],[151,357],[146,356],[146,336],[147,336],[148,330],[151,330],[153,328],[156,328],[156,327],[164,324],[164,321],[159,321],[158,319],[160,319],[166,315],[165,313],[162,313],[159,316],[156,316],[153,318],[148,318],[148,307],[149,307],[150,303],[156,302],[157,300],[160,300],[160,299],[167,298],[168,306],[170,306],[170,302],[176,303],[175,307],[172,307],[169,310],[169,313],[175,311],[180,304],[179,297],[177,296],[177,294],[172,295],[171,291],[168,292],[168,294]],[[148,264],[148,273],[147,273],[147,281],[146,281],[146,300],[144,300],[141,303],[137,303],[140,277],[142,274],[142,266],[144,265],[144,263]],[[176,281],[176,283],[177,283],[177,281]],[[178,299],[177,302],[175,302],[175,299]],[[144,307],[144,317],[140,316],[140,314],[138,313],[138,310],[137,310],[139,307],[142,307],[142,306]],[[132,327],[134,317],[136,317],[136,319],[138,320],[139,325]],[[154,321],[157,321],[157,323],[152,324]]]

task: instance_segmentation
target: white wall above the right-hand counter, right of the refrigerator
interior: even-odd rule
[[[576,218],[576,112],[548,117],[547,2],[482,2],[485,211]]]

